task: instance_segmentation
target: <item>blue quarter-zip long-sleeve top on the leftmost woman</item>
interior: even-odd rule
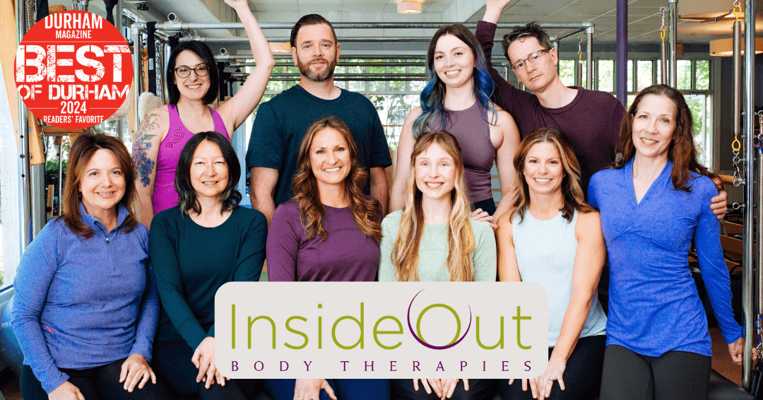
[[[119,206],[111,232],[79,205],[89,239],[50,221],[21,256],[13,328],[43,389],[69,379],[59,368],[86,369],[141,354],[151,360],[159,295],[149,263],[148,230],[121,230]]]

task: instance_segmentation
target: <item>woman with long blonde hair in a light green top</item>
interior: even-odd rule
[[[405,205],[381,222],[381,282],[494,282],[493,230],[471,218],[461,148],[452,134],[421,135],[410,154]],[[481,398],[491,381],[421,379],[427,394],[407,379],[392,380],[393,398]],[[468,392],[465,392],[468,391]],[[434,394],[432,393],[434,392]]]

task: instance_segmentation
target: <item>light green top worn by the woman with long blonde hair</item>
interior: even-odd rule
[[[379,260],[379,282],[394,281],[392,245],[398,237],[402,211],[394,211],[381,221],[381,260]],[[472,264],[476,282],[495,282],[496,253],[493,228],[487,222],[472,221],[475,235],[475,250]],[[419,244],[419,281],[448,282],[449,273],[445,265],[448,259],[448,224],[426,224]]]

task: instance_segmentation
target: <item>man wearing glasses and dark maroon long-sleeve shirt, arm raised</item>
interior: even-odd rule
[[[581,166],[581,184],[588,190],[591,175],[615,160],[615,144],[625,108],[607,92],[567,87],[559,79],[559,56],[549,35],[530,23],[504,36],[503,47],[511,69],[527,89],[514,88],[492,66],[493,37],[501,11],[509,0],[488,0],[485,17],[477,23],[476,37],[495,82],[494,102],[509,111],[520,137],[540,127],[553,127],[569,138]]]

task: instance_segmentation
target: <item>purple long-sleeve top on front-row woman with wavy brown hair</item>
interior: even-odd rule
[[[349,207],[324,208],[324,241],[317,235],[307,240],[295,199],[275,209],[266,245],[269,281],[375,281],[379,245],[362,234]]]

